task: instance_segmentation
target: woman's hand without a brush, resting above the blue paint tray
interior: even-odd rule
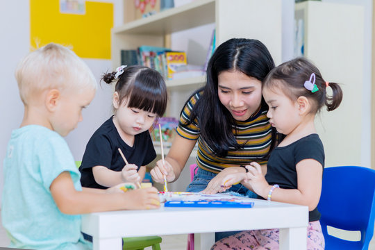
[[[233,178],[233,174],[245,174],[243,167],[227,167],[222,170],[222,172],[219,172],[217,176],[215,176],[207,185],[207,188],[202,191],[203,194],[216,194],[217,192],[224,192],[228,188],[222,187],[224,185],[224,182],[228,178]],[[236,183],[234,181],[233,183]],[[232,184],[233,185],[233,184]],[[230,187],[229,187],[230,188]]]

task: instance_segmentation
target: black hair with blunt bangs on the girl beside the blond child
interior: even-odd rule
[[[128,108],[139,108],[163,117],[167,108],[167,86],[163,76],[154,69],[140,65],[124,68],[118,79],[117,72],[103,74],[101,78],[110,84],[117,80],[115,91],[119,94],[119,103],[127,99]]]

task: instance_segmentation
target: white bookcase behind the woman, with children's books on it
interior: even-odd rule
[[[215,23],[217,46],[229,38],[258,39],[267,46],[276,64],[281,63],[281,9],[281,0],[196,0],[128,22],[112,31],[113,68],[120,63],[121,49],[164,47],[167,35],[211,23]],[[183,90],[203,82],[202,77],[188,78],[167,81],[167,87]]]

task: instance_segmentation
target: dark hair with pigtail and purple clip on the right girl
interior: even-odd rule
[[[304,87],[305,81],[310,81],[315,74],[316,92],[311,92]],[[326,88],[331,87],[332,95],[327,94]],[[295,58],[272,69],[265,78],[263,88],[278,88],[291,100],[306,97],[316,103],[311,113],[317,113],[326,106],[328,111],[335,110],[342,101],[342,90],[338,83],[324,81],[319,69],[306,58]]]

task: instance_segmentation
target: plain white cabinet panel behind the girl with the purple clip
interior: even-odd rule
[[[370,134],[363,131],[363,6],[306,1],[296,4],[297,16],[304,20],[304,56],[326,81],[342,83],[340,107],[330,113],[323,109],[315,121],[326,166],[362,165],[363,153],[369,151],[363,140]]]

